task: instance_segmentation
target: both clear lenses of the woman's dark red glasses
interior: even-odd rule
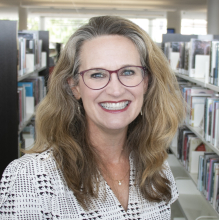
[[[137,86],[143,79],[143,69],[140,67],[124,67],[117,71],[119,81],[129,87]],[[107,85],[110,73],[104,69],[92,69],[84,73],[84,83],[91,89],[100,89]]]

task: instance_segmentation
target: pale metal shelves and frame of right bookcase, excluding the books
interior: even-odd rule
[[[198,39],[198,35],[181,35],[181,34],[164,34],[163,48],[166,42],[188,42],[191,38]],[[213,39],[218,39],[217,35],[213,35]],[[175,71],[175,75],[179,78],[185,79],[189,82],[195,83],[201,87],[208,88],[215,92],[219,92],[219,86],[209,84],[204,78],[193,78]],[[201,128],[192,127],[185,124],[201,141],[208,146],[213,152],[219,155],[219,149],[207,142],[204,138],[204,132]],[[169,155],[169,164],[173,175],[176,179],[176,184],[179,190],[178,203],[184,213],[186,219],[196,220],[205,219],[199,218],[201,216],[208,216],[206,219],[219,219],[218,212],[213,208],[212,204],[206,200],[205,196],[197,189],[197,175],[196,173],[189,173],[181,160],[177,159],[177,146],[170,146],[173,154]]]

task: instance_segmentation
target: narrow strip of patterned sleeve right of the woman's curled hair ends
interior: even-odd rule
[[[171,195],[172,195],[172,198],[170,200],[170,204],[174,203],[178,197],[179,197],[179,193],[178,193],[178,189],[177,189],[177,186],[176,186],[176,182],[175,182],[175,179],[173,177],[173,173],[170,169],[170,166],[167,162],[167,160],[164,162],[164,174],[166,175],[167,179],[170,181],[170,188],[171,188]]]

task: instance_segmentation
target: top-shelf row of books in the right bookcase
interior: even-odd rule
[[[189,42],[167,42],[164,53],[173,70],[219,85],[219,40],[192,38]]]

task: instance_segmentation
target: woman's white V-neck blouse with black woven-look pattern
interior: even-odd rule
[[[134,185],[135,169],[130,157],[129,203],[123,209],[108,184],[102,180],[97,199],[85,211],[68,189],[60,170],[57,169],[52,151],[27,154],[14,160],[6,168],[0,182],[1,220],[70,220],[70,219],[147,219],[169,220],[170,204],[178,198],[178,191],[170,171],[165,174],[171,182],[172,199],[151,203],[145,200]],[[106,197],[104,193],[106,192]]]

